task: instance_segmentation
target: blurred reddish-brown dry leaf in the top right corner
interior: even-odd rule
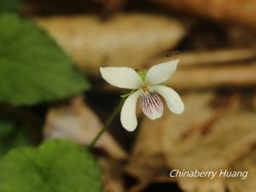
[[[186,14],[201,15],[214,20],[234,21],[255,26],[256,2],[254,0],[150,0],[167,9]],[[239,16],[237,16],[239,15]]]

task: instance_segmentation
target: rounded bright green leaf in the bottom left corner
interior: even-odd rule
[[[15,149],[0,160],[1,192],[102,192],[89,151],[61,140]]]

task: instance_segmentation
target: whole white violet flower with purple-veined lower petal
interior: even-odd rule
[[[100,67],[102,78],[108,84],[133,90],[121,110],[121,123],[125,130],[134,131],[137,127],[136,105],[140,100],[143,113],[149,119],[159,119],[163,114],[163,102],[172,113],[183,113],[184,104],[175,90],[161,85],[169,79],[177,68],[177,62],[167,61],[149,68],[147,73],[136,72],[129,67]]]

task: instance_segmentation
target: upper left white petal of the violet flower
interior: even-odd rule
[[[138,89],[143,84],[143,79],[129,67],[100,67],[100,71],[108,84],[119,88]]]

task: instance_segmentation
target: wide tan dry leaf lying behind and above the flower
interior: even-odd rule
[[[102,21],[93,15],[35,19],[86,73],[99,67],[140,67],[154,55],[172,49],[186,27],[165,16],[127,14]]]

